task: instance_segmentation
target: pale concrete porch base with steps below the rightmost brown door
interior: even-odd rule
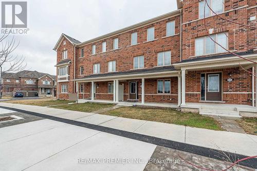
[[[186,103],[181,104],[183,112],[198,112],[201,115],[216,115],[226,117],[257,117],[257,109],[245,104],[218,104],[218,103]]]

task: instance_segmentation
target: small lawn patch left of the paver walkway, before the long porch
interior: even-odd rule
[[[114,104],[87,102],[87,103],[79,103],[79,104],[57,105],[57,106],[51,106],[51,108],[66,109],[66,110],[80,111],[80,112],[93,112],[103,108],[109,108],[112,106],[114,106]]]

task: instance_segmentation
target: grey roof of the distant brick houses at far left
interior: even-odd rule
[[[28,70],[23,70],[17,73],[8,73],[8,72],[3,72],[2,73],[2,77],[3,78],[40,78],[44,75],[48,75],[49,77],[51,77],[53,80],[56,80],[56,76],[55,75],[49,75],[46,73],[41,73],[38,71],[28,71]]]

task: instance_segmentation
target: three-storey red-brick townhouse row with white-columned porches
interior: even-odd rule
[[[208,2],[222,17],[256,26],[255,0]],[[212,39],[256,62],[256,29],[213,16],[208,7],[204,10],[205,1],[177,0],[177,6],[83,42],[62,34],[54,47],[58,98],[77,93],[80,101],[166,104],[183,111],[204,111],[205,104],[252,109],[255,63],[228,53]]]

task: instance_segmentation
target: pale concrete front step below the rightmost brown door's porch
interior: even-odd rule
[[[237,111],[228,110],[213,110],[213,109],[200,109],[201,115],[217,115],[217,116],[228,116],[228,117],[240,117]]]

